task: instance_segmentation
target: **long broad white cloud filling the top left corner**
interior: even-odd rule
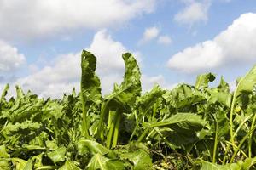
[[[155,0],[2,0],[1,37],[45,37],[79,28],[120,26],[154,11]]]

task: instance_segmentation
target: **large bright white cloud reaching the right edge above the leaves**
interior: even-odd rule
[[[174,54],[168,67],[185,72],[205,71],[228,65],[256,62],[256,14],[234,20],[212,40],[201,42]]]

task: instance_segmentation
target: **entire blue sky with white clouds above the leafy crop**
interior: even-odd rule
[[[78,88],[83,48],[98,58],[103,94],[122,81],[126,51],[144,91],[209,71],[234,88],[256,63],[255,20],[254,0],[0,0],[0,90],[58,98]]]

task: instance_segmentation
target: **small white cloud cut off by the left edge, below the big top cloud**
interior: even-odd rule
[[[13,71],[25,64],[26,58],[18,49],[0,40],[0,72]]]

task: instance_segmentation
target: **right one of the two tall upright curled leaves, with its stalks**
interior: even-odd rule
[[[120,124],[120,121],[121,121],[120,114],[122,114],[123,111],[125,112],[131,111],[131,107],[135,105],[136,98],[140,96],[142,91],[141,81],[140,81],[141,72],[137,65],[136,59],[134,59],[134,57],[129,53],[123,54],[123,59],[125,60],[124,80],[120,86],[116,85],[113,89],[113,93],[109,94],[104,99],[104,102],[102,103],[100,121],[97,128],[97,136],[100,136],[102,139],[103,133],[106,133],[106,132],[103,132],[102,130],[104,122],[113,123],[113,121],[106,120],[111,118],[110,116],[108,116],[109,111],[119,110],[117,111],[117,114],[115,114],[115,116],[111,118],[112,120],[117,120],[115,121],[116,123],[113,124],[113,129],[115,129],[116,133],[113,134],[112,146],[115,146],[117,144],[117,139],[119,136],[118,125]],[[112,131],[110,133],[112,133]],[[108,142],[108,146],[109,146],[109,142]]]

